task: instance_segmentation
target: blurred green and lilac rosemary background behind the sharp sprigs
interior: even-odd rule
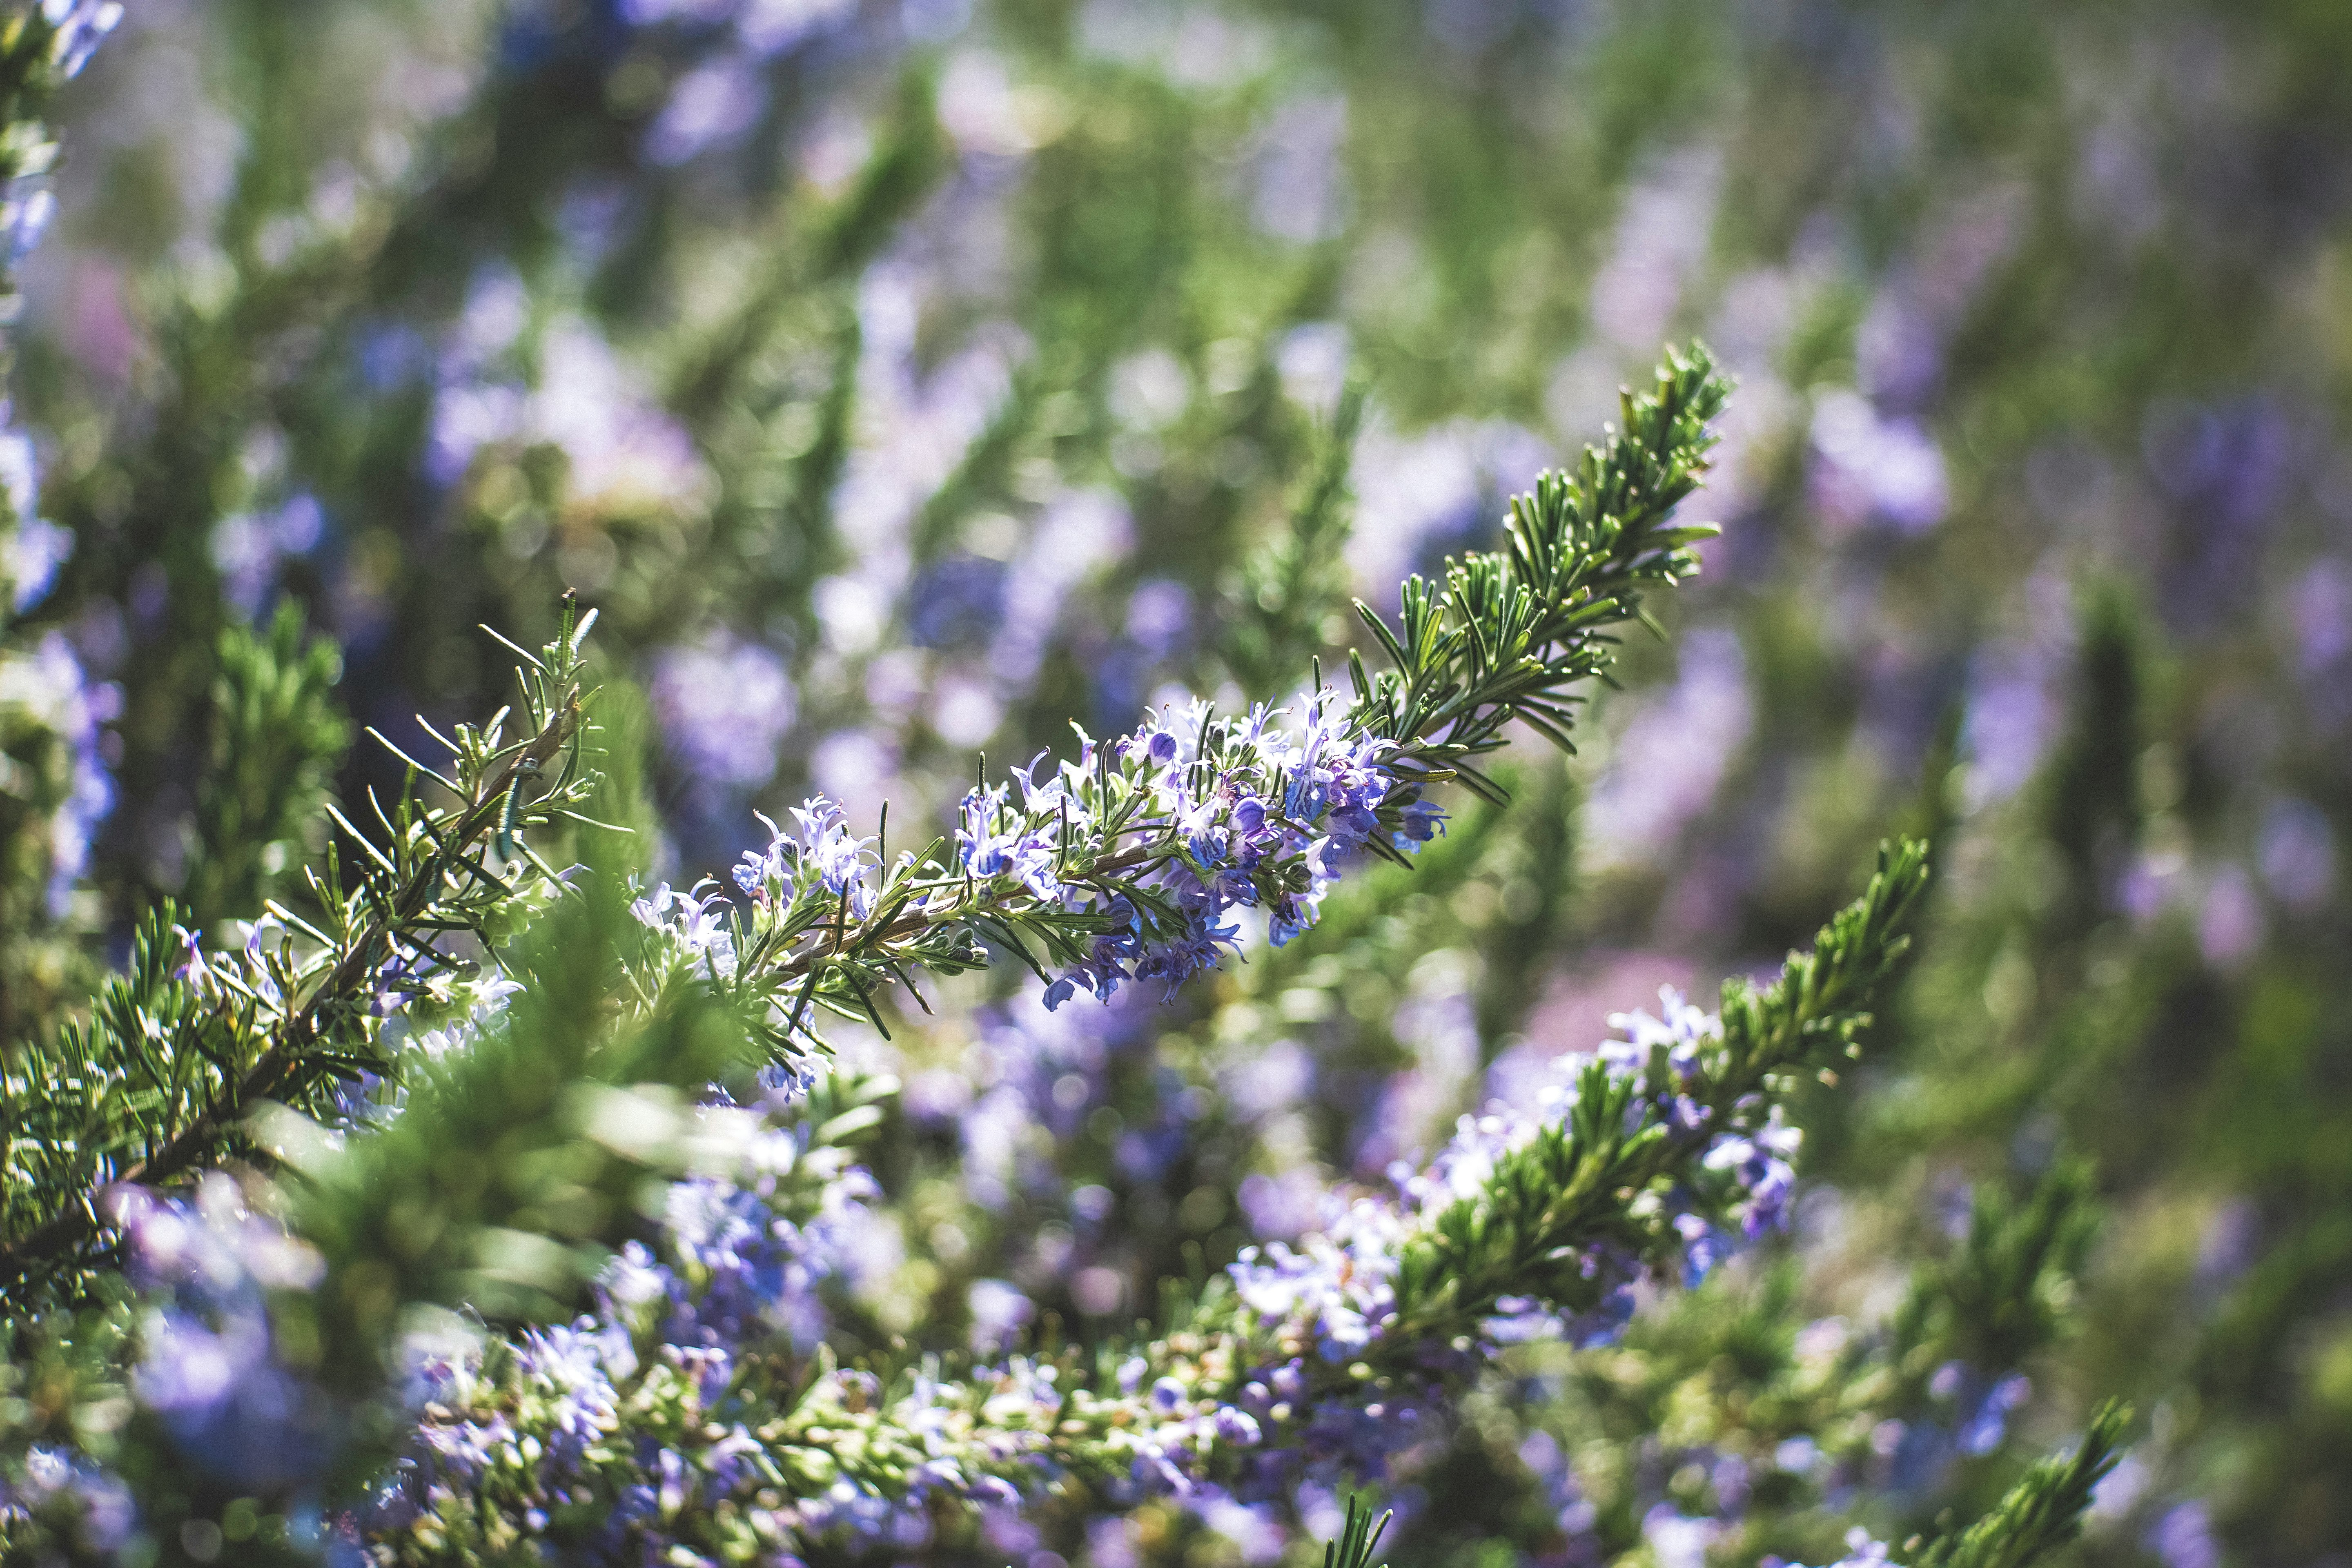
[[[1176,1006],[1002,978],[844,1044],[908,1086],[875,1312],[1148,1312],[1926,832],[1790,1246],[1625,1349],[1526,1347],[1399,1467],[1397,1561],[1900,1540],[2103,1394],[2143,1420],[2089,1556],[2352,1561],[2352,12],[143,0],[61,120],[14,411],[75,536],[24,625],[80,708],[35,715],[68,830],[7,912],[19,1004],[306,853],[188,853],[230,621],[299,604],[419,745],[503,701],[477,625],[576,588],[691,882],[814,790],[924,820],[1073,715],[1294,691],[1696,334],[1740,376],[1726,534],[1578,757],[1522,748],[1512,811]],[[2037,1182],[2072,1229],[1978,1302],[2009,1340],[1752,1460],[1738,1389],[1802,1392]],[[1256,1563],[1294,1523],[990,1549]]]

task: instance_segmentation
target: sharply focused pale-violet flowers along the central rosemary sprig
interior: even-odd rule
[[[847,950],[889,961],[901,957],[891,938],[943,926],[1025,954],[1025,931],[1061,971],[1047,978],[1049,1009],[1077,992],[1110,1001],[1129,980],[1174,994],[1240,945],[1235,910],[1263,910],[1272,940],[1287,943],[1315,924],[1350,860],[1402,858],[1444,825],[1421,785],[1385,764],[1395,743],[1352,724],[1334,693],[1308,693],[1296,724],[1284,717],[1261,703],[1221,719],[1195,701],[1112,741],[1080,731],[1077,757],[1049,769],[1040,752],[1011,783],[964,795],[953,863],[882,865],[877,837],[851,835],[842,809],[816,797],[793,811],[790,830],[767,823],[769,844],[734,867],[753,936],[722,929],[703,889],[663,886],[640,919],[729,971],[746,940],[800,940],[779,973]]]

